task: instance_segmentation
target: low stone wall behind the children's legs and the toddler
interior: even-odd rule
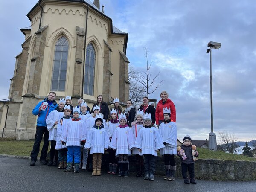
[[[129,156],[130,173],[136,172],[136,157]],[[102,169],[108,169],[108,154],[103,156]],[[180,157],[175,157],[176,177],[182,178]],[[157,157],[156,175],[165,175],[163,157]],[[256,162],[198,159],[195,162],[195,178],[202,180],[255,180]]]

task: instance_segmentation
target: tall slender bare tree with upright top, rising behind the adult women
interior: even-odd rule
[[[146,58],[146,62],[147,62],[147,69],[146,69],[146,72],[140,71],[140,81],[139,82],[145,88],[143,90],[143,92],[145,92],[148,97],[149,94],[154,93],[157,90],[157,88],[159,88],[161,86],[161,84],[163,83],[163,80],[161,80],[159,83],[156,82],[156,79],[159,76],[160,72],[158,72],[157,75],[155,75],[155,76],[151,75],[150,67],[151,67],[152,62],[150,64],[148,63],[147,47],[145,47],[145,58]]]

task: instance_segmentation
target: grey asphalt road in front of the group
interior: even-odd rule
[[[183,183],[183,179],[174,181],[156,177],[154,181],[129,175],[118,177],[102,173],[92,176],[91,172],[80,170],[79,173],[63,172],[57,167],[29,166],[29,160],[0,156],[0,191],[60,191],[60,192],[248,192],[256,191],[256,181],[204,181],[197,180],[197,185]]]

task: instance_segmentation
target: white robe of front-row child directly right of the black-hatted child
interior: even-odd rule
[[[116,150],[116,156],[119,154],[131,155],[131,149],[134,147],[134,136],[130,127],[117,127],[113,133],[109,147]]]

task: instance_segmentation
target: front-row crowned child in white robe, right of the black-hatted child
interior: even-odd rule
[[[116,156],[119,156],[118,176],[128,177],[128,155],[131,155],[131,149],[134,147],[134,136],[131,128],[127,125],[127,119],[124,113],[120,114],[119,123],[120,125],[114,131],[109,146],[116,150]]]

